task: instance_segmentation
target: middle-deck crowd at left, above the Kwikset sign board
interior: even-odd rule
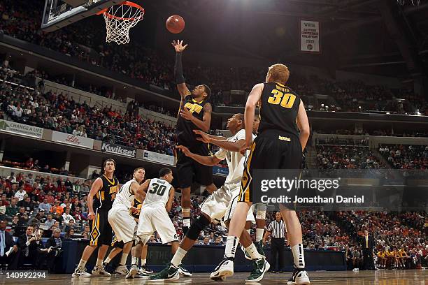
[[[1,69],[2,78],[15,74]],[[112,108],[99,110],[87,103],[76,103],[73,97],[54,92],[40,93],[3,81],[0,85],[1,110],[13,121],[76,136],[104,140],[119,145],[138,147],[162,154],[173,154],[175,129],[138,115],[138,106],[129,104],[127,112]]]

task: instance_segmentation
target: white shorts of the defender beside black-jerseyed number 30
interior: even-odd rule
[[[223,218],[224,221],[231,219],[236,203],[238,202],[240,189],[241,182],[236,184],[224,184],[204,200],[200,206],[201,212],[208,214],[208,216],[211,217],[211,221],[215,224],[220,222]],[[252,214],[251,209],[248,211],[247,221],[255,222],[254,214]]]

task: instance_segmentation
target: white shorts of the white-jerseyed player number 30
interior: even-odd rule
[[[155,231],[164,244],[178,241],[176,228],[174,228],[165,207],[153,207],[152,205],[142,207],[136,235],[144,240],[144,236],[150,237]]]

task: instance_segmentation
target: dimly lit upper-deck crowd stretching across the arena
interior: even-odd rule
[[[50,48],[90,64],[108,68],[110,71],[138,78],[147,84],[173,90],[173,59],[168,59],[157,50],[152,50],[133,41],[131,45],[107,45],[102,26],[85,24],[85,20],[69,25],[52,33],[39,29],[42,19],[43,1],[11,1],[0,4],[3,33],[30,43]],[[7,7],[7,8],[6,8]],[[91,22],[92,23],[92,22]],[[190,62],[185,64],[185,77],[190,84],[206,82],[213,91],[213,102],[228,105],[222,91],[243,89],[250,91],[257,82],[262,82],[266,70],[260,68],[230,68],[207,66]],[[66,81],[65,79],[63,81]],[[428,115],[427,102],[412,90],[390,89],[377,85],[366,85],[357,80],[334,81],[311,75],[308,78],[292,73],[288,83],[307,102],[310,109],[324,111],[367,112],[371,110],[397,114]],[[112,96],[111,90],[94,86],[79,87],[86,91]],[[329,95],[332,101],[318,101],[311,106],[306,96]],[[323,103],[324,102],[324,103]],[[232,103],[232,105],[236,105]]]

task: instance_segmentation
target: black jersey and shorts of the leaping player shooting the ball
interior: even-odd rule
[[[186,108],[192,112],[192,115],[201,121],[204,119],[204,107],[208,101],[196,101],[191,95],[184,99],[182,108]],[[210,155],[208,144],[197,140],[197,135],[193,130],[200,130],[195,124],[183,119],[178,115],[177,120],[177,145],[184,145],[190,152],[199,154],[201,156]],[[210,185],[213,183],[213,168],[211,166],[204,166],[197,161],[194,161],[183,152],[176,152],[176,168],[178,171],[178,185],[180,188],[192,186],[193,182],[201,185]]]

